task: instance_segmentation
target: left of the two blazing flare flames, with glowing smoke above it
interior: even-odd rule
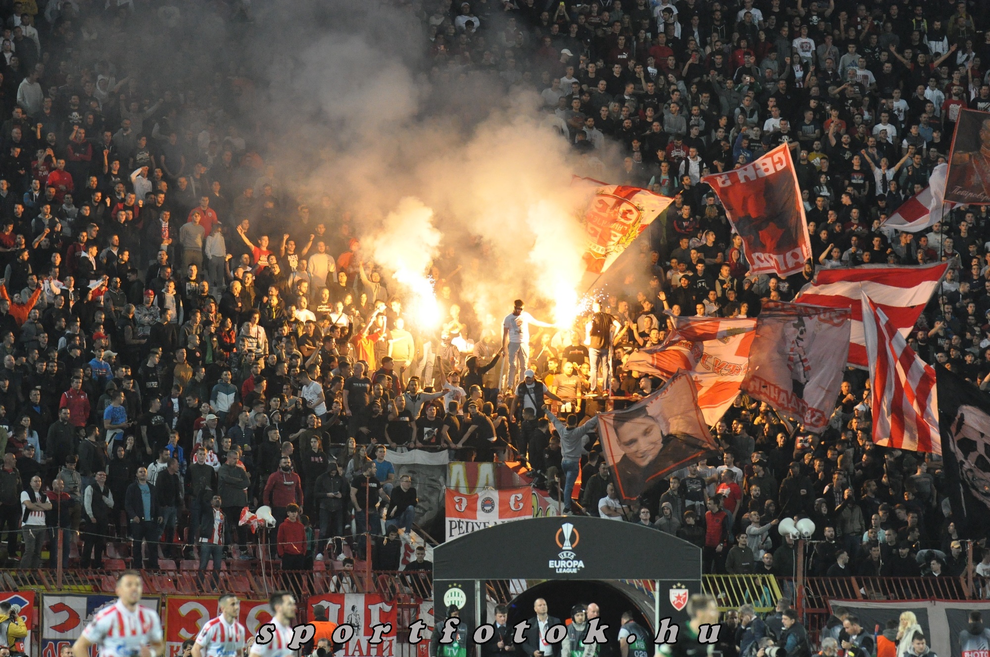
[[[420,328],[441,322],[434,281],[427,270],[439,252],[443,235],[434,228],[434,211],[419,199],[405,197],[367,243],[371,258],[388,269],[406,294],[407,316]]]

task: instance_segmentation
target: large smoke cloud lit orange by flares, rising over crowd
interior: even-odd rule
[[[543,125],[533,84],[507,95],[455,68],[431,71],[408,3],[255,11],[269,36],[250,41],[248,60],[270,43],[298,48],[262,57],[269,86],[254,108],[261,121],[291,125],[275,149],[279,175],[300,201],[329,195],[351,217],[360,256],[391,279],[390,292],[405,289],[418,322],[431,313],[431,275],[449,273],[429,270],[442,249],[461,268],[461,296],[478,318],[491,316],[486,325],[517,297],[546,319],[573,320],[587,190],[570,186],[575,162]]]

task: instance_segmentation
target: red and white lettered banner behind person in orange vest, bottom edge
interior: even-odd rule
[[[313,610],[323,607],[327,620],[339,626],[347,623],[354,628],[354,636],[344,647],[342,657],[395,657],[395,641],[398,630],[395,602],[387,603],[378,594],[324,594],[306,599],[305,621],[315,620]],[[300,614],[302,615],[302,614]],[[373,626],[391,623],[392,628],[382,634],[381,643],[368,642],[374,635]]]

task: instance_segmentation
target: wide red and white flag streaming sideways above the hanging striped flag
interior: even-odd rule
[[[851,310],[848,364],[869,369],[863,337],[862,295],[872,299],[906,337],[939,287],[946,269],[948,264],[945,262],[914,267],[870,264],[823,269],[815,275],[814,281],[798,293],[794,302]]]

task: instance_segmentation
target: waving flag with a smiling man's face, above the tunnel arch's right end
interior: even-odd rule
[[[686,372],[628,409],[598,414],[598,434],[623,500],[716,449]]]

